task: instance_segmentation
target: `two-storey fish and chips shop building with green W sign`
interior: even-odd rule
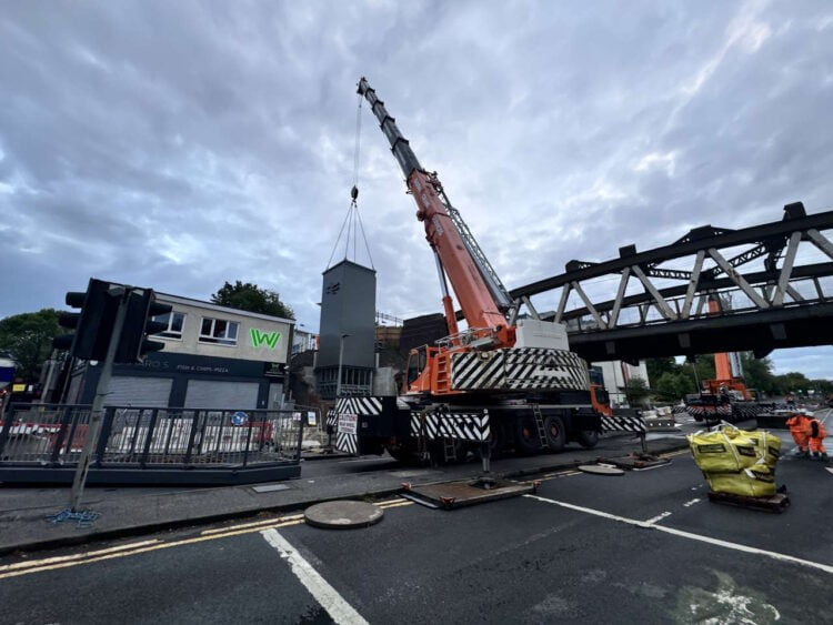
[[[210,302],[157,293],[173,311],[157,317],[164,350],[140,364],[116,364],[107,405],[272,409],[284,402],[295,322]],[[68,403],[91,404],[101,365],[73,367]]]

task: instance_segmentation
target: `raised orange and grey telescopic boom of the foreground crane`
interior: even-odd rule
[[[416,219],[425,226],[425,239],[449,276],[469,327],[491,330],[494,339],[491,346],[512,346],[514,329],[508,325],[504,316],[511,299],[498,274],[460,213],[449,202],[436,174],[422,169],[408,140],[397,128],[395,120],[384,108],[384,102],[364,78],[359,81],[359,93],[370,103],[391,144],[391,151],[416,202]],[[449,319],[450,325],[451,321]]]

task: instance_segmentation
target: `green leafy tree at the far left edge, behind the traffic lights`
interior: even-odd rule
[[[59,312],[42,309],[0,320],[0,352],[18,363],[17,375],[28,382],[40,376],[40,366],[52,351],[52,339],[66,331],[58,325]]]

